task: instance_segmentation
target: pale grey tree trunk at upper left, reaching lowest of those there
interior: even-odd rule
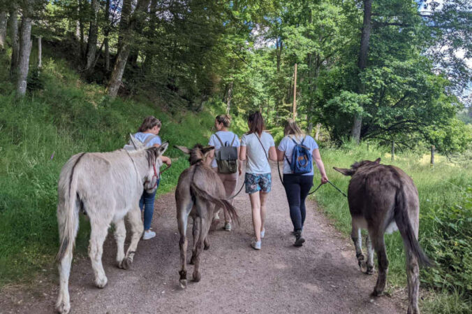
[[[27,77],[29,71],[29,55],[31,54],[31,17],[23,10],[20,30],[20,57],[18,58],[17,94],[23,96],[27,92]]]

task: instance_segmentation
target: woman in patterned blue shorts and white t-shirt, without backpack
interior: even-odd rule
[[[247,124],[249,132],[241,138],[239,159],[246,160],[246,176],[244,182],[246,193],[249,194],[252,209],[252,222],[255,239],[251,246],[260,250],[261,238],[264,238],[265,203],[272,186],[269,160],[277,160],[274,138],[264,132],[264,120],[260,112],[249,115]]]

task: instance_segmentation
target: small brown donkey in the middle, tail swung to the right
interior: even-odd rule
[[[235,208],[224,199],[226,192],[219,176],[205,164],[208,153],[214,147],[202,147],[197,144],[192,149],[183,146],[175,146],[175,148],[190,155],[190,167],[179,176],[175,190],[177,224],[180,233],[180,262],[182,264],[182,269],[179,271],[180,286],[185,288],[187,285],[186,230],[189,215],[193,218],[193,250],[190,264],[194,264],[193,280],[196,282],[201,278],[199,269],[202,246],[205,245],[205,250],[209,249],[207,235],[214,213],[219,208],[223,208],[233,221],[238,222],[238,217]]]

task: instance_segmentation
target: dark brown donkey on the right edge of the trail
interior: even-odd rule
[[[352,176],[348,187],[349,210],[353,229],[351,238],[359,266],[364,265],[360,228],[367,229],[367,273],[374,273],[374,252],[378,259],[378,278],[372,294],[381,295],[388,273],[385,251],[385,232],[399,230],[406,249],[406,276],[408,278],[408,313],[420,313],[418,309],[418,264],[432,266],[418,243],[418,215],[420,202],[413,180],[396,166],[364,160],[356,162],[351,169],[334,170]]]

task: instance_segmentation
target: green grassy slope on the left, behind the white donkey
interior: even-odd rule
[[[155,115],[163,122],[163,141],[170,142],[165,155],[174,159],[163,173],[158,189],[163,194],[188,166],[172,145],[206,144],[215,113],[223,112],[216,103],[201,113],[182,110],[171,116],[162,104],[112,100],[103,87],[82,83],[63,59],[43,60],[43,90],[17,99],[8,79],[9,58],[0,55],[0,287],[54,266],[57,180],[72,155],[122,148],[142,119]],[[237,126],[244,123],[235,124],[240,132]],[[89,224],[82,220],[77,252],[87,248],[88,235]]]

